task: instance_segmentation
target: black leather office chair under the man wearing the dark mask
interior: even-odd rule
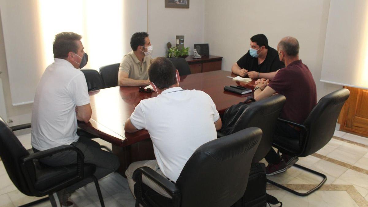
[[[15,187],[27,196],[43,197],[49,195],[57,198],[57,191],[83,179],[92,178],[96,185],[101,206],[105,206],[98,181],[93,175],[96,166],[84,163],[82,151],[72,145],[62,145],[30,154],[29,152],[32,152],[32,150],[27,151],[13,133],[13,130],[29,127],[31,127],[30,124],[22,124],[11,129],[0,117],[0,157]],[[76,152],[77,164],[51,167],[38,161],[39,158],[62,151]],[[31,206],[47,199],[49,198],[34,201],[24,206]],[[58,199],[54,200],[58,201]],[[52,203],[52,205],[56,206],[56,203]]]

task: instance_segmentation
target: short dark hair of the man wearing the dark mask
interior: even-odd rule
[[[69,52],[78,52],[78,45],[75,41],[81,40],[82,36],[74,32],[60,32],[55,35],[52,45],[54,58],[66,59]]]

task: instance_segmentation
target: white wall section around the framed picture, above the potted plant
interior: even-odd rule
[[[189,8],[165,8],[163,0],[148,1],[148,34],[153,45],[152,57],[166,55],[166,43],[175,46],[176,35],[184,35],[184,46],[204,41],[204,0],[191,0]]]

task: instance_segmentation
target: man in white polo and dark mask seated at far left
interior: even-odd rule
[[[83,152],[85,163],[96,165],[94,175],[100,179],[116,171],[119,161],[97,142],[77,135],[77,120],[87,123],[92,115],[86,79],[78,70],[88,61],[81,38],[73,32],[55,35],[54,63],[44,71],[33,102],[31,144],[35,152],[74,145]],[[63,151],[40,161],[49,166],[76,164],[77,154]],[[71,193],[92,181],[85,179],[57,192],[61,205],[72,206]]]

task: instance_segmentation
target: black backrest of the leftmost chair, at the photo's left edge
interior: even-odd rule
[[[32,196],[21,169],[21,158],[29,155],[13,131],[0,117],[0,157],[6,172],[15,187],[22,193]]]

